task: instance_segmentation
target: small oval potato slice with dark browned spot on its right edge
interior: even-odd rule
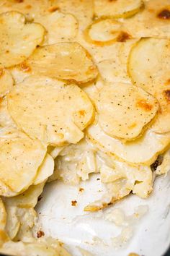
[[[122,31],[122,23],[113,19],[103,19],[93,22],[84,31],[84,37],[96,46],[108,46],[115,41],[123,42],[130,35]]]

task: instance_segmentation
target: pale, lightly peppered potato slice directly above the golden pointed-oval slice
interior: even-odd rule
[[[56,11],[40,17],[36,22],[48,31],[48,44],[75,40],[78,33],[79,22],[72,14]]]

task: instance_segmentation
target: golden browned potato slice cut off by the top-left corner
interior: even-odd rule
[[[0,12],[22,12],[27,20],[34,20],[48,11],[51,3],[48,0],[1,0]]]

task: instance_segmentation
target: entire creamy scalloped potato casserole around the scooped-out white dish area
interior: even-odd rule
[[[0,3],[0,252],[70,255],[35,211],[47,183],[77,186],[99,175],[103,196],[84,212],[104,214],[130,194],[146,199],[167,174],[169,7]]]

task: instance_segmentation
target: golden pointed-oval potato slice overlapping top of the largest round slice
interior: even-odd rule
[[[32,70],[32,74],[43,74],[79,84],[94,80],[98,74],[89,53],[76,42],[39,47],[24,65]]]

